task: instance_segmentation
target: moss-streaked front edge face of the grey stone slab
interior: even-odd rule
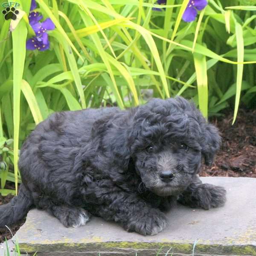
[[[101,242],[101,243],[52,243],[50,244],[26,244],[20,243],[22,252],[131,252],[135,253],[156,253],[161,248],[161,251],[167,251],[172,248],[173,253],[192,253],[193,244],[186,243],[145,243],[145,242]],[[216,254],[216,255],[256,255],[256,246],[254,245],[220,245],[220,244],[196,244],[195,253],[200,254]],[[64,254],[62,254],[64,255]],[[147,254],[149,255],[149,254]]]

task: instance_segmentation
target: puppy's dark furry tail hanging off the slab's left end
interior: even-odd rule
[[[0,227],[11,226],[22,219],[33,204],[29,190],[21,184],[17,196],[8,204],[0,205]]]

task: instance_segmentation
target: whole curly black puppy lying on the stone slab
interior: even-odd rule
[[[226,191],[197,175],[202,157],[210,165],[220,142],[217,128],[181,97],[125,111],[54,113],[20,150],[23,184],[0,206],[0,227],[37,207],[66,227],[84,225],[93,214],[157,234],[167,224],[163,211],[177,200],[203,209],[224,205]]]

